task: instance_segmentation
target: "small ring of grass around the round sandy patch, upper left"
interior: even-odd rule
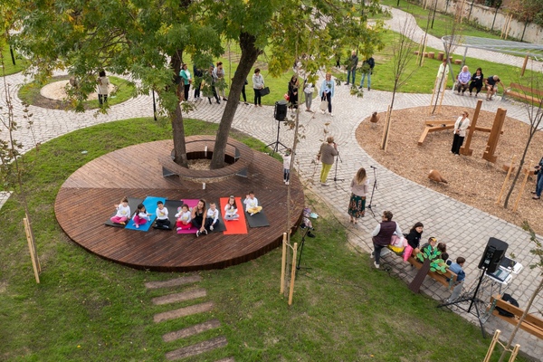
[[[108,103],[110,106],[122,103],[123,101],[129,100],[130,98],[137,95],[136,89],[129,81],[114,76],[110,76],[109,78],[111,84],[117,87],[117,90],[115,92],[112,92],[108,97]],[[70,77],[66,75],[50,78],[45,84],[40,84],[32,81],[30,83],[24,84],[19,89],[17,95],[20,100],[23,100],[28,104],[40,105],[40,103],[43,101],[43,96],[40,94],[43,86],[55,81],[65,81],[68,79],[70,79]],[[86,100],[83,102],[83,105],[87,110],[94,110],[100,108],[98,100]],[[66,106],[69,106],[69,104],[67,103]]]

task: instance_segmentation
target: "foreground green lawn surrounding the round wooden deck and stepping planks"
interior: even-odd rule
[[[187,136],[216,129],[186,119]],[[312,196],[308,204],[321,217],[314,225],[317,238],[305,244],[301,266],[309,269],[299,271],[291,307],[279,293],[277,249],[252,262],[200,272],[199,286],[208,293],[205,300],[214,301],[213,312],[153,323],[157,312],[199,301],[151,303],[167,291],[146,291],[144,283],[179,273],[135,271],[84,251],[62,233],[53,203],[64,180],[91,159],[170,137],[167,119],[127,119],[52,139],[20,159],[43,271],[36,284],[21,223],[24,210],[12,196],[0,209],[3,360],[157,361],[167,351],[224,335],[226,348],[189,360],[481,361],[490,339],[483,340],[477,327],[454,313],[436,309],[436,301],[413,294],[404,281],[372,268],[368,255],[346,242],[346,230],[328,214],[329,207]],[[85,202],[92,212],[91,200]],[[299,233],[293,241],[300,242]],[[219,329],[170,343],[161,339],[167,331],[211,318],[220,320]]]

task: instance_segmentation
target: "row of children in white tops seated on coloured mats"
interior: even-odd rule
[[[258,199],[254,197],[254,192],[250,191],[249,194],[245,196],[243,200],[245,205],[245,211],[250,214],[260,213],[262,211],[262,206],[258,205]],[[114,224],[125,225],[129,222],[131,213],[129,206],[128,197],[123,197],[120,200],[119,205],[115,205],[117,213],[111,217],[111,222]],[[168,219],[167,208],[164,207],[162,201],[157,202],[157,220],[155,227],[158,229],[170,229],[170,221]],[[145,205],[139,204],[136,213],[133,218],[133,225],[136,228],[139,228],[140,225],[150,222],[151,214],[148,214]],[[240,215],[238,214],[237,205],[235,203],[235,198],[231,195],[228,199],[228,203],[224,205],[224,220],[233,221],[238,220]],[[205,220],[204,220],[205,219]],[[196,228],[196,237],[201,234],[206,234],[208,232],[214,231],[214,228],[219,223],[219,210],[215,203],[209,203],[209,208],[205,210],[205,200],[198,200],[198,204],[195,205],[192,209],[183,204],[177,209],[176,214],[176,230],[188,230],[192,227]]]

